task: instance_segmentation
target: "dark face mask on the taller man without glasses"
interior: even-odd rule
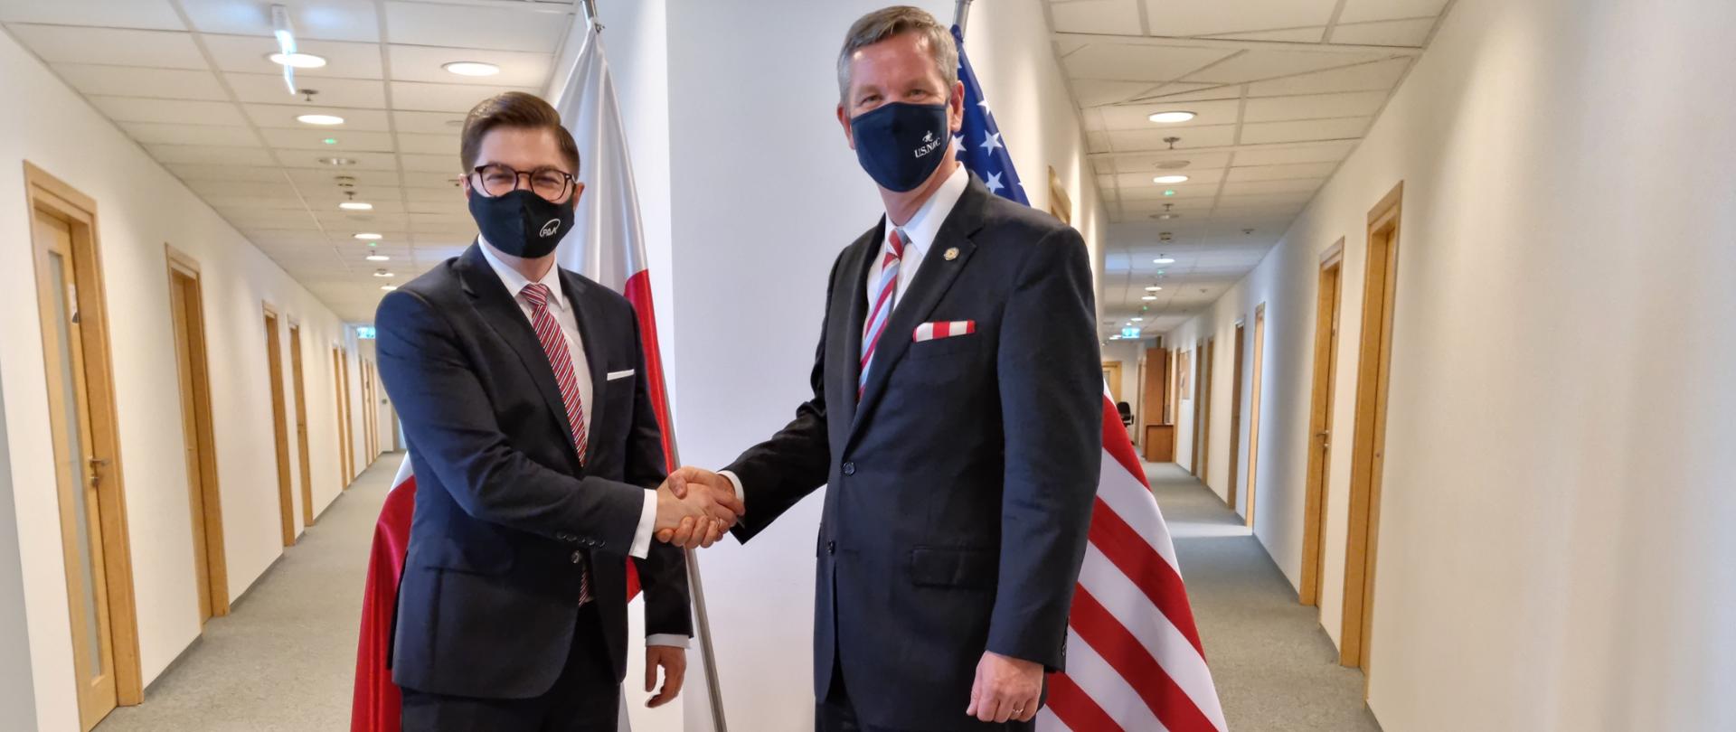
[[[889,102],[851,118],[856,160],[880,187],[911,191],[951,154],[946,104]]]

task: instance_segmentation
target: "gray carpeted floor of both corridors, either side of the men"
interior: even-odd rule
[[[356,623],[387,454],[302,534],[227,618],[97,732],[349,729]],[[1236,732],[1378,732],[1363,676],[1340,668],[1312,607],[1241,519],[1175,465],[1151,465],[1201,642]]]

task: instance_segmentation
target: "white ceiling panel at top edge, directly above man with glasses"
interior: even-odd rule
[[[529,5],[529,3],[523,3]],[[554,52],[573,24],[573,5],[441,5],[387,2],[385,33],[391,43],[444,45]]]

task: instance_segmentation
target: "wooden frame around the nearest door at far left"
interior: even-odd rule
[[[97,510],[102,534],[102,572],[109,609],[109,645],[115,670],[115,703],[118,706],[137,706],[144,701],[144,671],[139,664],[139,611],[132,585],[132,538],[127,522],[127,484],[122,467],[120,420],[115,401],[115,361],[109,352],[108,337],[108,293],[102,281],[102,245],[97,238],[97,203],[94,198],[78,193],[61,179],[24,161],[24,210],[31,217],[31,257],[38,271],[47,267],[42,245],[35,241],[36,210],[71,222],[73,229],[73,265],[89,278],[89,286],[80,288],[78,312],[80,330],[85,335],[85,389],[90,397],[90,434],[94,444],[90,454],[106,454],[108,465],[102,470],[102,486],[108,491],[97,494]],[[40,278],[40,272],[36,274]],[[38,288],[38,328],[43,328],[43,349],[49,347],[47,319],[49,310],[42,309],[43,293]],[[47,363],[43,363],[47,368]],[[64,543],[69,541],[62,536]],[[71,579],[68,579],[71,581]],[[68,597],[71,602],[71,597]],[[68,614],[75,611],[68,605]]]

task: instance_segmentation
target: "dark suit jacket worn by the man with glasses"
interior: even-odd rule
[[[632,305],[568,271],[561,286],[595,385],[583,467],[549,357],[477,245],[380,302],[380,376],[417,475],[392,652],[403,687],[547,692],[573,649],[587,555],[604,650],[625,675],[625,557],[667,467]],[[639,569],[646,631],[693,635],[684,555],[653,543]]]

